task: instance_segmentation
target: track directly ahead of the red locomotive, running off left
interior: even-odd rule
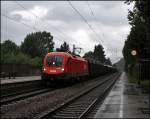
[[[42,93],[46,93],[46,92],[50,92],[50,91],[53,91],[54,89],[52,88],[41,88],[41,89],[37,89],[37,90],[31,90],[30,92],[24,92],[22,94],[12,94],[12,95],[5,95],[5,96],[2,96],[1,97],[1,105],[6,105],[6,104],[9,104],[9,103],[12,103],[12,102],[15,102],[15,101],[19,101],[19,100],[23,100],[25,98],[28,98],[28,97],[32,97],[32,96],[35,96],[35,95],[39,95],[39,94],[42,94]]]

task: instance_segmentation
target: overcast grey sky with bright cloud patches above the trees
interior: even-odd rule
[[[71,49],[73,44],[82,47],[83,56],[100,43],[106,56],[113,63],[118,61],[130,31],[127,14],[133,5],[123,1],[70,3],[79,13],[68,1],[1,1],[1,42],[10,39],[20,45],[28,33],[47,31],[54,36],[55,48],[66,41]]]

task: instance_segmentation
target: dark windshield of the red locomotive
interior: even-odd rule
[[[59,67],[62,65],[63,57],[62,56],[48,56],[47,65]]]

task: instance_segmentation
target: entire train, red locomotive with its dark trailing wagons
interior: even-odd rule
[[[67,52],[50,52],[44,58],[41,78],[44,83],[69,82],[116,71],[111,66]]]

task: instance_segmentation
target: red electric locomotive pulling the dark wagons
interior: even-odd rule
[[[44,58],[44,82],[68,81],[88,74],[88,62],[84,58],[66,52],[50,52]]]

